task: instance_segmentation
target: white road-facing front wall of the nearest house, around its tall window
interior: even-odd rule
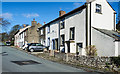
[[[76,43],[83,43],[83,49],[86,43],[86,9],[71,14],[65,18],[65,41],[70,39],[70,28],[75,27],[75,39],[70,44],[70,53],[76,53]],[[65,53],[67,53],[67,45],[65,44]],[[82,53],[84,55],[85,52]]]

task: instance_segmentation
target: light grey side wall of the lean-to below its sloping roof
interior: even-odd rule
[[[115,40],[92,28],[92,45],[97,48],[98,56],[115,56]]]

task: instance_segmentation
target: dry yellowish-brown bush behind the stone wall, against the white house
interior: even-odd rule
[[[87,56],[97,56],[97,49],[95,45],[87,46],[85,50]]]

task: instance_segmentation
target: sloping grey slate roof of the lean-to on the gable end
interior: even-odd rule
[[[94,28],[95,30],[105,34],[105,35],[108,35],[109,37],[112,37],[115,39],[115,41],[120,41],[120,34],[116,31],[113,31],[113,30],[106,30],[106,29],[99,29],[99,28],[95,28],[95,27],[92,27]]]

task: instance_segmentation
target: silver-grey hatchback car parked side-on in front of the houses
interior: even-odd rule
[[[30,51],[30,52],[43,51],[44,48],[47,48],[47,47],[40,44],[40,43],[30,43],[27,47],[27,50]]]

